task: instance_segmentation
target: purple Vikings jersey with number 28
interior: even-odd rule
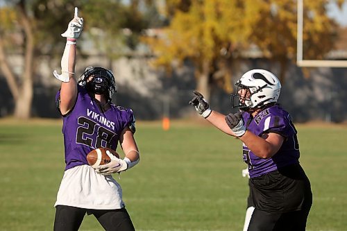
[[[60,91],[56,100],[60,99]],[[133,111],[114,104],[103,110],[87,91],[78,86],[74,109],[62,117],[65,170],[88,164],[87,153],[95,148],[117,149],[119,135],[127,126],[135,132]]]

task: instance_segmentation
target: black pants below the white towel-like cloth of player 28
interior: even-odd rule
[[[80,228],[85,214],[93,214],[105,230],[134,231],[134,225],[125,208],[83,209],[66,205],[56,206],[54,231],[76,231]]]

